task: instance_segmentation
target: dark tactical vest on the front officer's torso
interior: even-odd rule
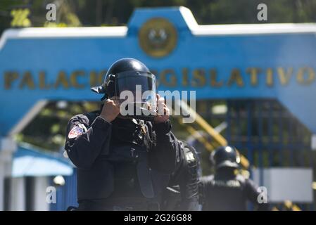
[[[97,116],[87,114],[89,126]],[[148,165],[148,154],[154,144],[148,125],[140,121],[134,131],[116,125],[113,122],[109,148],[103,147],[90,169],[78,169],[78,200],[106,198],[115,202],[116,198],[132,197],[159,201],[169,176]]]

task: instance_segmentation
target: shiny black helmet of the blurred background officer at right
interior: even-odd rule
[[[239,153],[234,146],[221,146],[210,153],[210,161],[215,169],[222,167],[238,168],[240,163]]]

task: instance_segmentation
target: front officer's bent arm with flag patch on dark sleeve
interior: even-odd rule
[[[68,122],[65,150],[78,168],[89,169],[101,151],[107,152],[111,124],[96,117],[89,126],[85,115],[72,117]]]

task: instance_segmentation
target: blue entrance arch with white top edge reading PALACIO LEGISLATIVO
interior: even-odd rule
[[[316,25],[198,25],[189,9],[144,8],[122,27],[25,28],[0,39],[0,136],[47,100],[98,100],[108,66],[137,58],[160,90],[277,98],[316,133]]]

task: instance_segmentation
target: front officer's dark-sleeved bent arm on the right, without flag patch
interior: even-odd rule
[[[170,131],[170,120],[153,124],[153,130],[156,133],[156,145],[153,146],[149,157],[151,167],[160,172],[171,174],[177,167],[177,160],[180,160],[180,143]]]

